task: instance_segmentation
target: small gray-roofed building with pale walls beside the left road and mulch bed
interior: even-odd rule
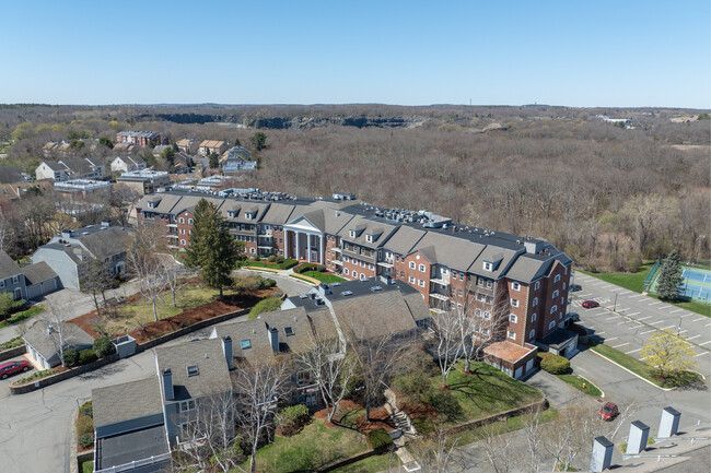
[[[54,368],[61,364],[60,341],[63,342],[63,350],[82,351],[91,348],[94,344],[94,338],[79,326],[71,322],[59,323],[61,327],[42,321],[36,322],[22,335],[30,359],[42,369]]]

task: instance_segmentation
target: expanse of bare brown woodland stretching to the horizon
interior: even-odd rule
[[[567,107],[0,106],[7,164],[27,169],[70,131],[267,147],[240,187],[427,209],[463,224],[543,237],[594,271],[633,271],[673,248],[709,258],[708,110]],[[620,128],[598,116],[631,118]],[[708,117],[708,115],[707,115]],[[205,121],[202,125],[178,121]],[[706,118],[702,116],[702,118]],[[218,121],[220,123],[218,123]],[[255,128],[255,126],[265,127]],[[89,152],[89,151],[82,151]],[[110,154],[110,151],[104,151]]]

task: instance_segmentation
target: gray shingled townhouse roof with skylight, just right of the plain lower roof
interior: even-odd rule
[[[159,374],[173,373],[175,400],[197,399],[232,389],[222,341],[200,340],[155,350]],[[188,376],[187,367],[197,365],[199,374]]]

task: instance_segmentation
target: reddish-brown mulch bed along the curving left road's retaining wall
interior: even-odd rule
[[[161,319],[158,322],[148,322],[142,328],[131,330],[128,334],[136,339],[137,343],[145,343],[156,336],[173,332],[184,327],[191,326],[196,322],[253,307],[259,300],[271,296],[273,293],[275,289],[271,288],[255,291],[253,293],[243,295],[228,295],[221,299],[213,300],[202,306],[186,309],[173,317],[166,317],[165,319]],[[140,298],[141,296],[137,294],[127,298],[127,301],[137,300]],[[91,312],[71,319],[70,321],[81,327],[82,330],[84,330],[90,335],[98,338],[101,335],[96,333],[93,328],[94,323],[96,322],[95,319],[96,310],[92,310]],[[112,338],[124,334],[125,333],[113,333]]]

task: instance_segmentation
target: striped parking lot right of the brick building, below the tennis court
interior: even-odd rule
[[[579,312],[581,323],[593,329],[607,345],[639,359],[650,336],[669,329],[686,336],[699,370],[711,377],[711,318],[580,272],[575,273],[575,283],[583,291],[571,293],[570,310]],[[584,309],[581,304],[585,299],[597,300],[601,307]]]

